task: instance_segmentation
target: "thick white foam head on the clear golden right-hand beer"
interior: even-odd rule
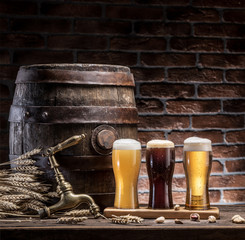
[[[212,151],[211,141],[207,138],[187,138],[184,141],[184,151]]]

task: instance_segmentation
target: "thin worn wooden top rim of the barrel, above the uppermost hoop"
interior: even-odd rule
[[[51,63],[33,64],[21,66],[20,69],[49,69],[49,70],[75,70],[75,71],[102,71],[102,72],[126,72],[130,73],[130,68],[122,65],[92,64],[92,63]]]

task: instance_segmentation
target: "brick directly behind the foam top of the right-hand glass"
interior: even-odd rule
[[[175,144],[180,145],[180,144],[184,144],[185,139],[193,136],[208,138],[212,141],[212,143],[223,143],[223,133],[221,131],[200,131],[200,132],[172,131],[168,133],[168,140],[173,141]]]

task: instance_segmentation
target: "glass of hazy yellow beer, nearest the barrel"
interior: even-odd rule
[[[138,208],[138,177],[141,163],[141,144],[133,139],[113,143],[112,166],[116,182],[114,207]]]

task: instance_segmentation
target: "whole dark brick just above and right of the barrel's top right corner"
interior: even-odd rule
[[[142,53],[141,64],[144,66],[195,66],[194,54],[182,53]]]

